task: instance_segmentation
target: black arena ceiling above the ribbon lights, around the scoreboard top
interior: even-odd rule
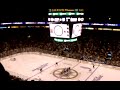
[[[8,2],[9,3],[9,2]],[[119,4],[119,3],[118,3]],[[10,2],[0,6],[0,22],[2,21],[40,21],[47,17],[49,8],[84,8],[86,16],[120,17],[117,2],[102,0],[42,0],[42,2]]]

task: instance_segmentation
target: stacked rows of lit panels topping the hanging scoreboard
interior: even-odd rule
[[[83,22],[84,9],[49,9],[48,21],[49,22]]]

